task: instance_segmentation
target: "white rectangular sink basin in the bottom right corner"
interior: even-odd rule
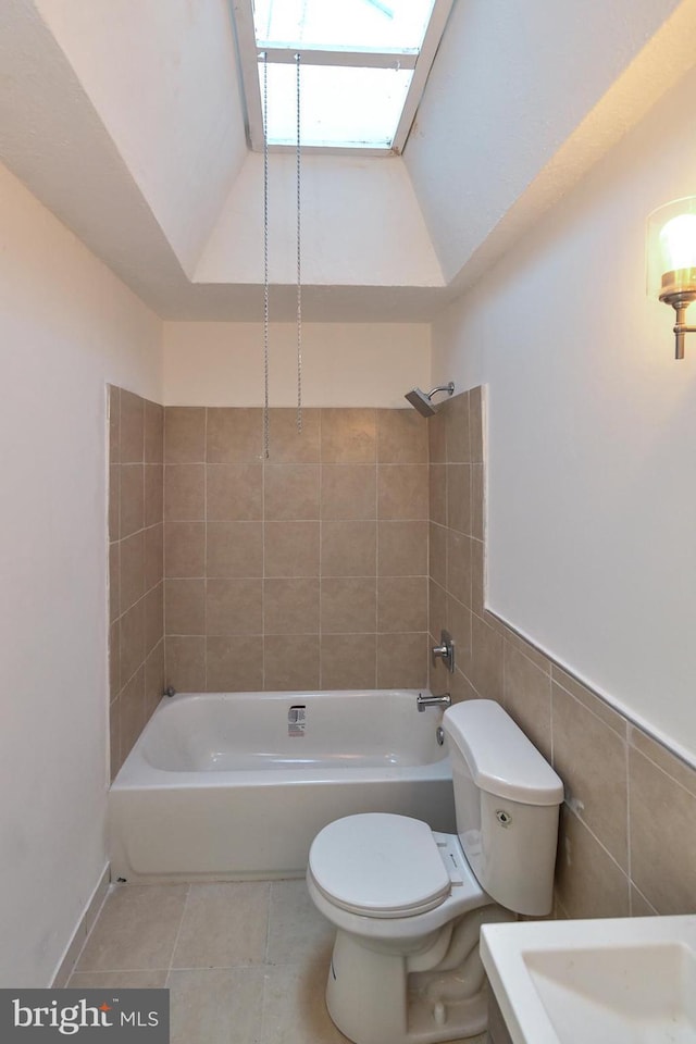
[[[696,916],[482,928],[513,1044],[696,1044]]]

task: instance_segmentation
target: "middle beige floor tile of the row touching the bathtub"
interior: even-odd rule
[[[263,960],[269,882],[191,884],[173,968],[231,968]]]

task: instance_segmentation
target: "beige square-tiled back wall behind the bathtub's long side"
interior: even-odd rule
[[[166,681],[427,681],[427,424],[413,410],[167,407]]]

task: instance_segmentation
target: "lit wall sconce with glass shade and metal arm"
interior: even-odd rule
[[[675,359],[684,358],[686,309],[696,301],[696,196],[658,207],[648,217],[648,294],[676,313]]]

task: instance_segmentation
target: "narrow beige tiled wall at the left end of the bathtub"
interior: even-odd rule
[[[109,389],[109,668],[111,773],[164,682],[161,406]]]

